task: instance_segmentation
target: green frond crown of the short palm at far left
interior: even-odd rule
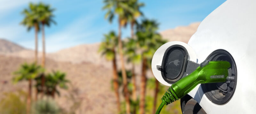
[[[36,63],[24,63],[17,71],[13,73],[15,75],[13,82],[17,83],[21,80],[35,79],[36,76],[42,72],[44,72],[44,69],[40,65],[36,65]]]

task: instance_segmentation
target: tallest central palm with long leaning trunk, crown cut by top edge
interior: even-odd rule
[[[108,10],[105,18],[108,18],[110,22],[112,22],[115,15],[118,16],[118,49],[119,49],[119,56],[121,60],[121,70],[122,70],[122,77],[123,77],[123,84],[124,84],[124,95],[125,95],[125,102],[126,102],[126,113],[130,114],[130,101],[129,101],[129,92],[127,88],[127,76],[124,67],[124,55],[123,55],[123,44],[121,40],[121,29],[127,24],[127,15],[128,11],[125,10],[125,7],[128,7],[129,0],[104,0],[105,6],[103,10]]]

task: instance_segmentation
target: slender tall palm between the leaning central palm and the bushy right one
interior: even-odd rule
[[[138,3],[138,0],[130,0],[129,1],[129,7],[127,8],[127,11],[129,12],[128,15],[128,21],[130,21],[131,24],[131,38],[134,39],[134,25],[137,23],[136,19],[140,16],[143,15],[143,13],[140,11],[140,7],[143,7],[143,3]],[[135,51],[133,51],[135,52]],[[132,63],[132,100],[135,101],[137,99],[136,95],[136,78],[135,78],[135,68],[134,68],[134,63]]]

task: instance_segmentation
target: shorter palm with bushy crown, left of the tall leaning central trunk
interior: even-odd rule
[[[119,100],[119,84],[116,67],[116,45],[118,44],[117,36],[114,31],[110,31],[108,34],[104,34],[104,40],[100,44],[99,51],[102,55],[105,55],[107,60],[112,61],[113,68],[113,85],[116,94],[117,110],[120,112],[120,100]]]

